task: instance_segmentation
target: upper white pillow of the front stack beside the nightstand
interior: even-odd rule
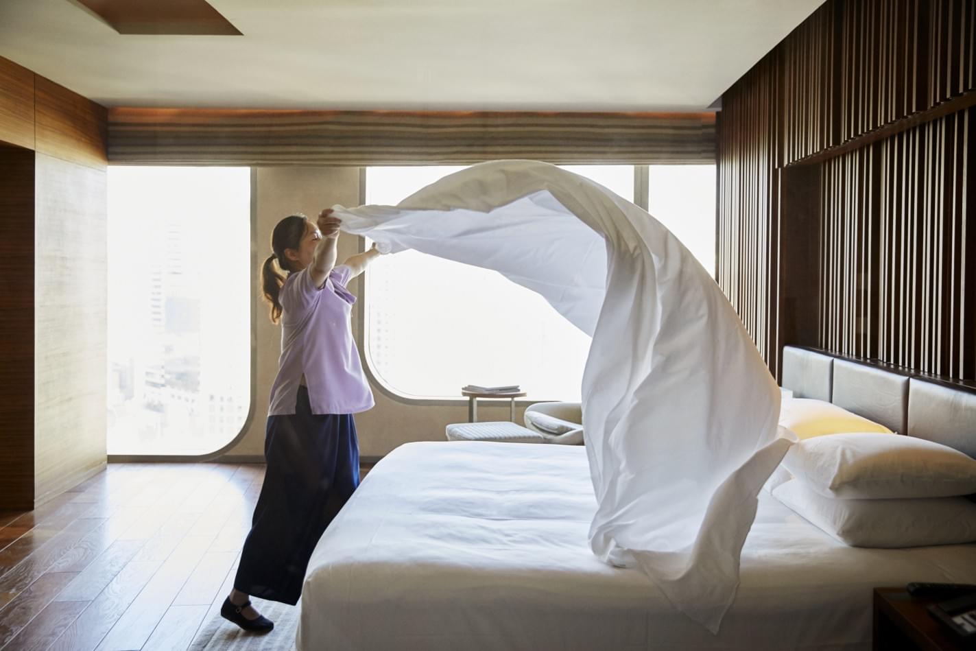
[[[898,434],[808,438],[790,449],[783,468],[825,497],[879,500],[976,493],[976,459]]]

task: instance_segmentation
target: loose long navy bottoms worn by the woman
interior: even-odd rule
[[[351,414],[311,413],[299,387],[295,414],[268,416],[267,471],[234,588],[295,605],[318,539],[359,485]]]

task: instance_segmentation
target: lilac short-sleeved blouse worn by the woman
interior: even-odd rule
[[[355,414],[373,406],[373,392],[352,339],[352,304],[346,290],[352,269],[340,264],[315,287],[307,267],[285,280],[278,300],[281,358],[268,416],[295,413],[302,375],[313,414]]]

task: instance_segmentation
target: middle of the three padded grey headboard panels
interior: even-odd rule
[[[834,359],[831,401],[900,434],[908,432],[909,378],[874,366]]]

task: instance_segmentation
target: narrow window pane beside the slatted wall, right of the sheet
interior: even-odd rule
[[[715,274],[715,166],[651,165],[648,211]]]

